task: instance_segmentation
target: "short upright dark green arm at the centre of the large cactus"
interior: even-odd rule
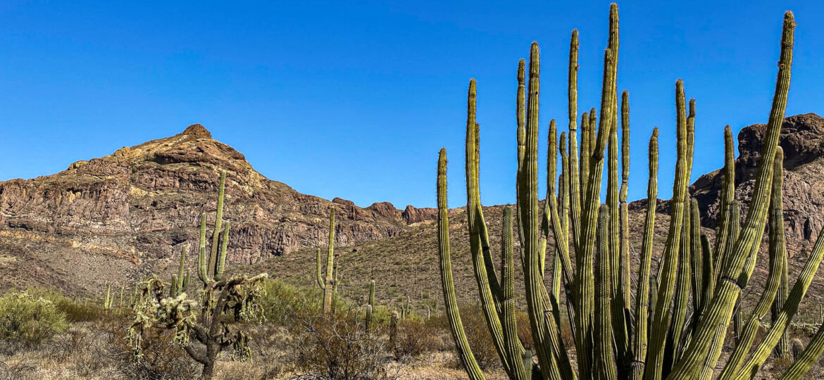
[[[613,287],[611,281],[614,276],[611,275],[612,260],[610,255],[612,253],[610,243],[610,209],[609,206],[602,205],[601,210],[598,211],[598,237],[597,245],[598,253],[597,265],[595,266],[595,286],[596,286],[596,302],[595,302],[595,317],[592,320],[593,330],[593,348],[594,353],[592,357],[593,368],[595,370],[593,378],[598,379],[616,379],[615,359],[612,356],[612,295]]]

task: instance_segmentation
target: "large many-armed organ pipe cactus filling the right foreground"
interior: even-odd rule
[[[714,244],[701,234],[698,203],[690,197],[687,188],[695,151],[695,101],[687,103],[683,82],[676,82],[677,161],[667,240],[660,248],[658,273],[652,274],[658,204],[658,128],[655,128],[649,141],[647,215],[634,297],[630,285],[626,202],[630,155],[629,94],[624,92],[620,103],[619,176],[616,89],[619,36],[615,4],[610,8],[609,21],[601,108],[598,115],[595,109],[582,114],[580,128],[577,125],[578,32],[573,32],[569,52],[568,133],[561,132],[558,139],[555,121],[550,122],[548,191],[542,210],[537,193],[540,58],[536,43],[531,45],[528,75],[525,61],[518,64],[515,216],[521,242],[527,314],[538,357],[535,368],[523,364],[522,358],[528,353],[513,334],[514,325],[509,318],[514,304],[512,252],[508,248],[512,240],[508,235],[508,230],[512,229],[509,225],[512,211],[508,207],[504,210],[500,280],[492,266],[489,234],[480,204],[480,126],[475,118],[478,92],[475,80],[470,81],[466,120],[466,215],[475,280],[494,347],[509,378],[709,379],[717,367],[733,311],[756,266],[756,252],[767,220],[770,220],[770,275],[756,308],[746,323],[742,323],[742,333],[733,356],[722,366],[725,380],[751,378],[785,336],[786,328],[824,257],[824,234],[820,234],[792,291],[784,299],[776,297],[780,294],[781,278],[785,276],[782,273],[786,271],[781,239],[782,155],[778,137],[789,91],[794,16],[792,12],[784,15],[775,95],[761,147],[756,184],[743,219],[738,215],[735,201],[732,132],[729,127],[725,129],[719,231],[715,234]],[[561,154],[560,169],[556,147]],[[600,205],[605,161],[606,205]],[[461,363],[470,378],[479,379],[484,375],[466,341],[456,307],[449,253],[446,165],[446,151],[442,149],[438,155],[438,252],[447,319]],[[548,242],[552,240],[555,246],[549,247]],[[554,257],[545,257],[546,253]],[[544,273],[550,262],[553,262],[554,272],[548,281],[550,290],[547,290]],[[570,362],[564,341],[560,339],[561,298],[566,301],[569,313],[577,366]],[[630,308],[632,303],[634,308]],[[756,343],[756,327],[772,304],[775,304],[775,310],[770,330],[762,341]],[[688,308],[692,313],[687,312]],[[751,350],[753,345],[755,348]],[[799,360],[784,378],[803,376],[822,351],[824,330],[819,330],[808,350],[799,355]],[[749,357],[748,352],[752,353]]]

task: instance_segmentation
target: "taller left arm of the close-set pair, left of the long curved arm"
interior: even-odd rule
[[[681,241],[681,228],[684,220],[686,200],[686,186],[689,181],[687,173],[687,143],[686,143],[686,102],[684,100],[684,82],[676,81],[676,115],[677,115],[677,162],[675,181],[672,185],[672,211],[670,216],[667,243],[661,255],[661,264],[658,269],[658,295],[653,311],[652,333],[649,336],[647,365],[644,368],[644,378],[660,380],[664,344],[669,330],[669,308],[674,295],[676,276],[678,271],[678,248]]]

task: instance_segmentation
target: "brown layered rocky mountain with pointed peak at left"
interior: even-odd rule
[[[163,271],[183,245],[196,252],[199,215],[214,218],[222,169],[233,264],[325,244],[330,209],[340,221],[340,246],[395,236],[434,215],[389,202],[362,208],[302,194],[265,178],[194,124],[173,137],[77,161],[58,174],[0,182],[0,268],[11,274],[0,287],[99,289]]]

